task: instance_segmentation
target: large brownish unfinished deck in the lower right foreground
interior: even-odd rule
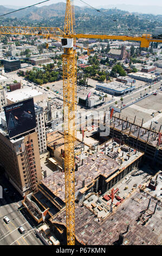
[[[149,202],[149,208],[146,210]],[[123,245],[161,244],[160,210],[162,203],[148,193],[140,191],[139,188],[103,221],[83,204],[75,204],[75,235],[80,243],[84,245],[121,244],[119,234],[122,233]],[[144,210],[146,212],[142,214],[141,212]],[[149,220],[148,215],[153,212],[154,214]],[[142,216],[139,217],[140,215]],[[147,218],[148,221],[145,223]],[[51,219],[51,222],[66,226],[66,211],[57,214]]]

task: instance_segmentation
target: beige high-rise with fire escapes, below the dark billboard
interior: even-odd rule
[[[0,151],[5,174],[17,191],[22,196],[35,191],[42,179],[37,132],[9,139],[6,127],[0,125]]]

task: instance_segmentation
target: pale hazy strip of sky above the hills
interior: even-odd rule
[[[30,4],[35,4],[42,2],[43,0],[5,0],[2,5],[18,5],[18,6],[27,6]],[[133,5],[159,5],[162,6],[162,1],[161,0],[135,0],[135,1],[130,1],[130,0],[113,0],[113,1],[108,1],[108,0],[83,0],[84,2],[92,5],[92,6],[98,6],[98,5],[108,5],[108,4],[133,4]],[[49,5],[53,3],[58,3],[58,2],[66,2],[65,0],[50,0],[49,2],[46,2],[41,5]],[[75,5],[85,5],[80,2],[80,0],[74,0]],[[37,5],[37,7],[41,7],[41,5]]]

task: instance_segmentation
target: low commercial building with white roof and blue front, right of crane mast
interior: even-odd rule
[[[119,82],[96,84],[96,90],[115,96],[125,95],[128,92],[132,92],[134,89],[135,86]]]

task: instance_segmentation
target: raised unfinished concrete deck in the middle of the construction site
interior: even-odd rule
[[[119,144],[115,143],[114,148],[112,143],[106,146],[109,156],[104,155],[103,151],[97,152],[78,163],[78,170],[75,172],[75,197],[77,197],[79,191],[83,193],[89,190],[99,176],[103,176],[106,182],[108,182],[108,179],[111,179],[113,174],[118,174],[118,170],[126,168],[143,155],[140,151],[133,150],[129,152],[130,156],[128,159],[128,151],[119,150],[119,153],[117,153],[120,148]],[[127,160],[124,160],[126,158]],[[43,179],[42,184],[65,202],[64,173],[52,173]]]

